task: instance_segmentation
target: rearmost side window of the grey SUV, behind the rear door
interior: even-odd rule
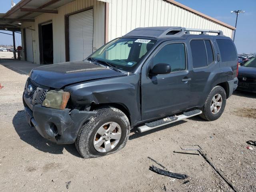
[[[216,41],[220,48],[220,56],[222,62],[237,60],[236,50],[231,40],[217,39]]]

